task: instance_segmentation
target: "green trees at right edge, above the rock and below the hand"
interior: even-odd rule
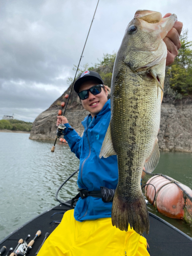
[[[188,41],[188,31],[180,36],[181,48],[172,66],[168,68],[170,87],[181,96],[192,95],[192,41]]]

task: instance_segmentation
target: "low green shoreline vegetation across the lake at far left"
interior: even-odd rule
[[[32,126],[32,122],[25,122],[17,119],[0,120],[0,132],[30,133]]]

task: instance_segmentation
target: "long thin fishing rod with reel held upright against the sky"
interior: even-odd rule
[[[97,2],[97,6],[98,6],[98,4],[99,4],[99,0],[98,0],[98,2]],[[96,6],[96,8],[95,8],[95,12],[94,12],[94,15],[93,15],[93,18],[92,18],[92,22],[91,22],[91,25],[90,25],[90,28],[89,28],[89,32],[88,32],[88,35],[87,35],[87,38],[86,38],[86,42],[84,43],[84,47],[83,47],[83,50],[82,50],[82,53],[81,53],[81,56],[80,56],[80,59],[79,59],[79,63],[78,63],[77,69],[76,69],[75,77],[74,77],[74,79],[73,79],[73,83],[72,83],[72,87],[71,87],[71,90],[70,90],[70,93],[69,93],[69,97],[68,97],[68,100],[67,100],[67,103],[66,103],[66,107],[65,107],[65,110],[64,110],[62,116],[65,116],[65,113],[66,113],[66,109],[67,109],[67,106],[68,106],[68,103],[69,103],[69,98],[70,98],[71,92],[72,92],[72,90],[73,90],[75,78],[76,78],[76,75],[77,75],[77,72],[78,72],[78,69],[79,69],[79,65],[80,65],[81,59],[82,59],[82,57],[83,57],[82,54],[83,54],[83,52],[84,52],[84,48],[86,47],[86,43],[87,43],[87,40],[88,40],[88,37],[89,37],[89,33],[90,33],[90,30],[91,30],[91,27],[92,27],[92,23],[93,23],[93,20],[94,20],[94,18],[95,18],[95,13],[96,13],[96,10],[97,10],[97,6]],[[64,129],[65,129],[65,125],[63,125],[62,123],[58,125],[57,135],[56,135],[56,137],[55,137],[55,142],[54,142],[54,144],[53,144],[53,146],[52,146],[52,148],[51,148],[51,152],[52,152],[52,153],[55,151],[55,144],[56,144],[56,142],[57,142],[57,138],[60,137],[59,134],[61,134]]]

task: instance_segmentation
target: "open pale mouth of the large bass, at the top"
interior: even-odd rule
[[[156,11],[138,10],[134,18],[138,19],[144,30],[160,30],[160,36],[165,38],[168,31],[173,28],[177,21],[177,15],[172,14],[169,17],[162,18],[162,14]]]

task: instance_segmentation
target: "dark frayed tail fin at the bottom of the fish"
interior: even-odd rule
[[[144,197],[141,195],[135,202],[130,203],[115,194],[112,206],[112,225],[127,231],[129,224],[140,235],[144,231],[149,233],[150,220]]]

